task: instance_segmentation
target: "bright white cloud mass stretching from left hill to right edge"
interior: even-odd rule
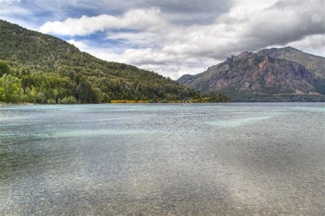
[[[171,23],[158,8],[140,8],[121,16],[103,14],[47,22],[40,30],[65,36],[107,31],[106,39],[118,40],[117,46],[123,47],[105,49],[70,42],[101,59],[133,64],[176,79],[202,72],[229,55],[267,46],[289,45],[324,55],[322,6],[323,1],[234,1],[228,12],[200,25]]]

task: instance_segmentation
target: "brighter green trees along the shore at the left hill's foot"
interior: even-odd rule
[[[225,94],[199,94],[181,86],[143,85],[143,83],[117,83],[96,81],[75,72],[56,75],[53,72],[31,72],[29,68],[0,62],[0,101],[5,103],[110,103],[112,100],[141,100],[167,103],[192,98],[194,102],[228,102]],[[90,81],[88,81],[90,80]],[[169,79],[166,79],[169,81]],[[93,81],[93,82],[91,82]],[[163,90],[162,90],[163,88]],[[168,89],[166,89],[168,88]],[[166,90],[168,93],[165,93]]]

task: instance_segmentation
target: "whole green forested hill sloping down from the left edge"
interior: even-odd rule
[[[7,102],[107,103],[199,96],[155,72],[106,62],[64,40],[2,20],[0,78],[0,101]]]

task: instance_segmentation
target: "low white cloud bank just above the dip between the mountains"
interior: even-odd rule
[[[202,72],[208,66],[218,63],[215,59],[206,57],[169,55],[161,52],[159,49],[142,48],[121,51],[120,49],[93,46],[91,41],[88,40],[69,40],[68,42],[100,59],[109,62],[132,64],[145,70],[158,72],[165,77],[171,77],[171,79],[178,79],[178,77],[187,73],[195,74]],[[145,59],[147,59],[147,62],[145,62]]]

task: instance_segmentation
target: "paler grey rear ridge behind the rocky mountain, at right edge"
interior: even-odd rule
[[[257,52],[261,55],[275,57],[277,59],[287,59],[292,62],[301,64],[305,68],[313,71],[316,77],[325,78],[325,57],[304,53],[291,46],[284,48],[263,49]]]

